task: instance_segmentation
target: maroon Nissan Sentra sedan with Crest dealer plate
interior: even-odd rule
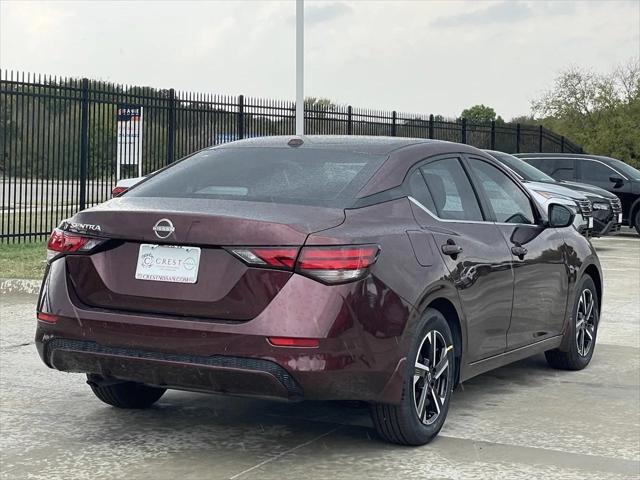
[[[466,145],[234,142],[52,233],[36,343],[116,407],[168,388],[361,400],[383,438],[423,444],[464,380],[540,352],[589,363],[602,273],[572,221]]]

